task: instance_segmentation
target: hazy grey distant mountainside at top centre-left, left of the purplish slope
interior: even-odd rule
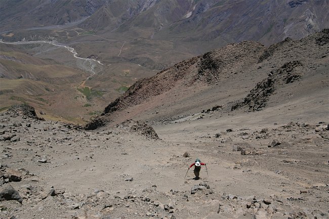
[[[131,31],[167,26],[182,18],[193,1],[111,1],[106,2],[79,27],[93,31]]]

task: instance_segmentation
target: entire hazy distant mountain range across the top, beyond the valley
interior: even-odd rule
[[[3,0],[0,31],[86,19],[77,26],[125,38],[269,45],[329,27],[328,5],[328,0]]]

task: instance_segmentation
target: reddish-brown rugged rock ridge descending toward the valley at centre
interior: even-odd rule
[[[103,125],[101,121],[112,112],[144,103],[154,96],[170,91],[175,86],[214,84],[227,77],[232,71],[239,69],[240,66],[255,63],[258,60],[258,54],[263,51],[264,46],[258,42],[232,43],[223,49],[213,50],[202,56],[182,61],[158,72],[151,78],[138,80],[125,94],[110,103],[102,116],[87,123],[86,128],[97,128],[99,127],[97,124]]]

